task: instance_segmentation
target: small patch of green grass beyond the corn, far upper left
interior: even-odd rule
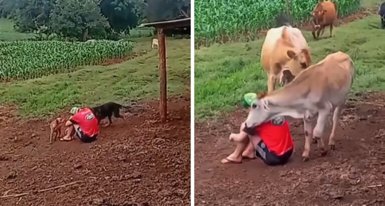
[[[16,32],[11,20],[0,19],[0,41],[27,40],[33,37],[34,34]]]

